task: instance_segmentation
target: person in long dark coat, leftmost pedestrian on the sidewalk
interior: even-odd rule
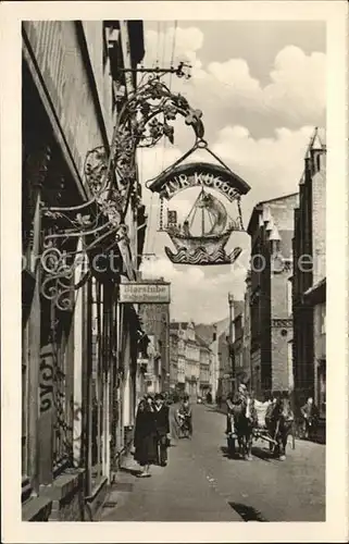
[[[138,405],[135,428],[135,459],[142,467],[139,477],[150,477],[149,467],[157,462],[157,429],[150,399]]]

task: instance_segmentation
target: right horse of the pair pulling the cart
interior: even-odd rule
[[[294,423],[294,412],[289,398],[278,398],[275,404],[271,405],[265,423],[270,435],[276,442],[274,456],[284,461],[286,459],[287,438]]]

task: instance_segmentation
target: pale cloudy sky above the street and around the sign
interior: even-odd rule
[[[191,78],[164,77],[195,109],[202,111],[210,149],[251,187],[241,199],[247,227],[262,200],[298,190],[303,157],[315,126],[325,126],[326,34],[322,22],[178,21],[145,22],[144,65],[191,64]],[[175,122],[174,145],[159,144],[139,153],[142,184],[182,157],[194,144],[191,129]],[[196,151],[190,161],[212,161]],[[214,162],[214,160],[213,160]],[[179,221],[194,203],[196,189],[171,200]],[[233,233],[227,252],[241,247],[234,265],[174,265],[172,249],[159,233],[159,197],[144,188],[149,218],[145,277],[171,282],[171,317],[212,323],[228,313],[227,295],[244,298],[249,264],[247,233]],[[234,217],[233,208],[227,207]]]

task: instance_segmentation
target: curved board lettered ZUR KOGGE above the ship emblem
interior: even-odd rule
[[[149,186],[153,193],[170,200],[177,193],[190,187],[208,187],[215,189],[233,202],[237,196],[246,195],[250,187],[237,174],[233,174],[220,165],[207,162],[182,164],[160,175]]]

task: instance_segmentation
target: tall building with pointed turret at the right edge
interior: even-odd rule
[[[304,157],[295,210],[294,375],[297,406],[313,396],[326,408],[326,143],[316,128]]]

